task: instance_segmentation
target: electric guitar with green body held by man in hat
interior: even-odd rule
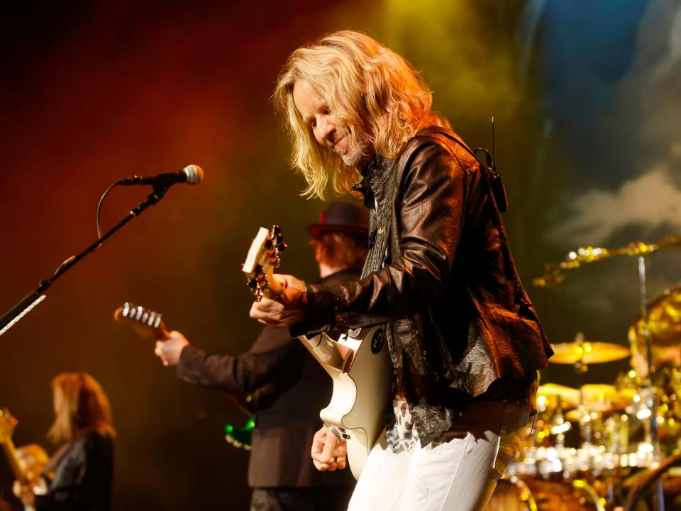
[[[114,319],[118,323],[132,326],[138,336],[143,339],[163,341],[170,336],[170,333],[167,331],[165,323],[163,322],[162,314],[141,307],[140,305],[135,305],[131,302],[125,302],[123,307],[118,307],[116,312],[114,312]],[[255,417],[250,414],[250,410],[243,405],[243,402],[248,403],[249,398],[247,396],[244,399],[241,399],[239,396],[232,394],[228,394],[228,397],[249,417],[243,427],[225,424],[225,440],[228,444],[250,451]]]

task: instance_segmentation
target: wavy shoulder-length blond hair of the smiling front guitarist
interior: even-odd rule
[[[304,79],[327,101],[331,114],[350,129],[350,144],[367,141],[375,153],[396,158],[427,126],[449,127],[432,111],[433,94],[404,57],[368,35],[339,31],[292,53],[279,74],[274,99],[292,136],[292,165],[304,175],[303,195],[326,198],[358,180],[336,153],[316,143],[293,101],[293,86]],[[362,138],[363,137],[363,138]]]

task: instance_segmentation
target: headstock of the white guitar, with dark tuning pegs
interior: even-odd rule
[[[272,226],[270,231],[260,227],[258,235],[250,244],[241,269],[246,274],[248,287],[255,295],[255,301],[260,302],[263,296],[278,295],[281,292],[281,285],[272,275],[282,263],[280,254],[286,246],[282,229],[277,225]]]

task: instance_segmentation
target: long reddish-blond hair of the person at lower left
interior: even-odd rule
[[[88,373],[62,373],[52,379],[55,422],[48,437],[55,444],[88,431],[116,436],[111,405],[101,385]]]

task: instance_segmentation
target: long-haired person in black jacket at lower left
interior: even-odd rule
[[[57,375],[52,396],[55,422],[48,437],[63,445],[45,466],[41,483],[15,481],[15,495],[36,511],[110,510],[116,432],[109,398],[87,373]]]

